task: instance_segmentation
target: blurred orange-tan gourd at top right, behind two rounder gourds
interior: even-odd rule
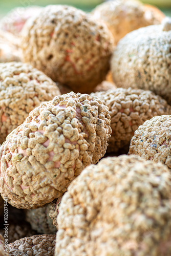
[[[158,17],[154,9],[145,7],[135,0],[108,1],[98,5],[92,14],[108,25],[116,44],[123,36],[135,29],[160,24],[162,16]],[[164,16],[163,13],[163,18]]]

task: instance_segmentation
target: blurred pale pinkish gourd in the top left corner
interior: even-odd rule
[[[28,18],[38,14],[40,6],[16,7],[7,13],[0,21],[0,29],[19,36]]]

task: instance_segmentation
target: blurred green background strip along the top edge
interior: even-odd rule
[[[0,0],[0,16],[4,16],[14,7],[27,7],[29,5],[46,6],[49,4],[67,4],[91,11],[102,0]],[[171,16],[171,0],[142,0],[144,3],[159,7],[166,15]]]

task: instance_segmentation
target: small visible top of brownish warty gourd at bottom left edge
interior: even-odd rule
[[[26,237],[8,245],[12,256],[53,256],[55,249],[54,234],[39,234]]]

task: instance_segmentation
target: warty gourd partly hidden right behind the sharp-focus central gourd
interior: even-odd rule
[[[92,93],[109,108],[112,135],[107,152],[127,148],[134,132],[146,120],[154,116],[171,115],[171,107],[151,91],[117,88],[106,92]]]

